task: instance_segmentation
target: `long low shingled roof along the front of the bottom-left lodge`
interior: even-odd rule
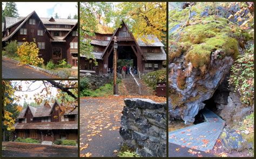
[[[15,129],[78,129],[77,121],[17,123]]]

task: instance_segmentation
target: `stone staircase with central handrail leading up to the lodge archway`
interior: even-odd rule
[[[142,79],[138,78],[138,75],[136,75],[136,79],[141,85],[142,96],[153,95],[153,91],[142,81]],[[139,86],[134,82],[132,77],[126,75],[122,81],[128,95],[139,96]]]

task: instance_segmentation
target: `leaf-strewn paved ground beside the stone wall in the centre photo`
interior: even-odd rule
[[[80,99],[80,156],[113,157],[120,149],[123,98]]]

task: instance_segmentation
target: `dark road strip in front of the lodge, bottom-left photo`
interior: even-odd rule
[[[2,142],[2,149],[3,157],[78,157],[78,148],[75,146]]]

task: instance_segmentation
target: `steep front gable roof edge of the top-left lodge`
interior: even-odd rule
[[[41,20],[41,19],[38,17],[37,13],[36,13],[35,11],[33,11],[32,13],[30,13],[28,16],[26,16],[24,19],[21,20],[22,23],[15,29],[15,31],[13,31],[10,35],[8,35],[8,36],[6,36],[6,37],[3,37],[3,38],[2,38],[2,41],[6,41],[6,40],[10,39],[10,38],[19,30],[19,28],[21,28],[21,27],[26,23],[26,21],[28,21],[29,18],[30,18],[32,15],[34,15],[34,14],[37,16],[37,18],[38,18],[39,20]],[[18,21],[17,23],[19,23],[19,22],[20,22],[20,21]],[[42,21],[41,21],[41,22],[42,22]],[[15,23],[15,24],[17,24],[17,23]],[[12,25],[15,25],[15,24],[12,24]],[[43,25],[43,27],[45,28],[46,33],[48,33],[50,39],[53,40],[51,34],[50,34],[49,31],[46,29],[45,25],[44,25],[43,23],[42,23],[42,25]]]

